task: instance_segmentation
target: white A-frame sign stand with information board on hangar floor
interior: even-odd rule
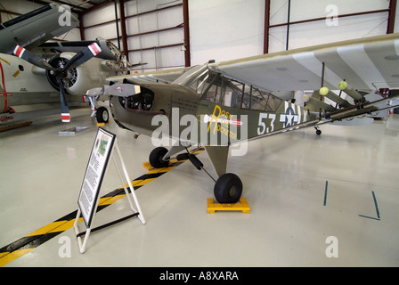
[[[113,155],[112,158],[114,160],[115,167],[118,170],[118,175],[122,181],[126,193],[126,198],[129,201],[130,208],[132,209],[134,214],[125,216],[123,218],[110,222],[109,224],[103,224],[99,227],[92,229],[94,214],[97,211],[97,206],[99,202],[99,192],[102,184],[102,178],[105,174],[110,156],[113,154],[114,150],[117,151],[117,157]],[[120,167],[122,167],[122,169]],[[130,193],[126,189],[126,183],[129,185]],[[130,194],[133,197],[133,201],[130,197]],[[134,208],[134,204],[136,208]],[[125,221],[126,219],[133,216],[137,216],[142,224],[145,224],[144,216],[142,216],[142,209],[140,208],[139,202],[135,196],[132,181],[127,174],[125,163],[122,159],[122,155],[116,142],[116,134],[111,134],[101,127],[99,127],[94,140],[92,153],[86,167],[85,178],[82,183],[79,198],[77,200],[77,205],[77,217],[73,226],[77,234],[77,243],[79,245],[80,253],[85,253],[85,246],[89,238],[90,232],[101,230],[112,224],[117,224],[119,222]],[[77,227],[77,223],[79,222],[79,218],[81,215],[83,216],[83,219],[85,221],[85,232],[79,232],[79,229]],[[83,241],[81,238],[82,235],[85,235],[85,240]]]

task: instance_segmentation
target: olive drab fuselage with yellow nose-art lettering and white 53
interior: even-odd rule
[[[229,145],[293,129],[311,119],[307,109],[222,77],[207,66],[192,68],[173,84],[125,83],[136,86],[135,94],[110,96],[112,116],[119,126],[150,136]]]

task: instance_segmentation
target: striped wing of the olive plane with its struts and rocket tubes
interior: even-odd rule
[[[345,125],[346,121],[350,121],[349,125],[362,125],[367,119],[364,115],[397,105],[397,100],[393,99],[399,97],[399,34],[222,61],[213,68],[225,77],[277,96],[278,92],[314,91],[305,99],[306,108],[313,112],[314,119],[289,130],[332,122]],[[344,91],[354,101],[347,102],[329,89]],[[380,99],[367,101],[364,94],[371,92],[380,94]],[[337,104],[326,104],[320,100],[321,96]],[[283,128],[253,139],[287,130]]]

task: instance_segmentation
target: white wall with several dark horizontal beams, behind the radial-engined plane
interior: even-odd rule
[[[172,7],[167,10],[159,10],[167,6],[174,6],[175,4],[182,4],[182,0],[127,1],[125,3],[126,34],[128,36],[138,35],[159,29],[174,28],[178,25],[182,25],[182,5]],[[159,11],[151,12],[156,10]],[[117,12],[119,14],[119,6]],[[143,12],[149,13],[135,16],[138,13]],[[117,37],[114,4],[106,5],[101,9],[85,14],[83,20],[84,27],[112,20],[112,22],[105,25],[85,28],[85,39],[94,39],[96,37],[110,39]],[[120,28],[120,23],[118,27],[119,36],[121,36],[122,30]],[[112,40],[112,42],[118,45],[117,40]],[[141,36],[127,37],[128,50],[134,50],[134,52],[128,53],[129,61],[131,63],[147,62],[148,64],[142,66],[141,69],[146,71],[149,69],[184,66],[184,53],[180,51],[180,45],[167,48],[157,48],[159,46],[175,45],[178,43],[183,43],[183,28],[174,28],[167,31],[154,32]],[[121,50],[123,50],[122,40],[120,40],[120,45]]]

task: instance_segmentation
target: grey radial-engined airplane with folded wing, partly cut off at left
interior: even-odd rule
[[[69,17],[69,25],[60,25],[61,15]],[[68,105],[82,105],[87,89],[126,73],[126,58],[109,41],[45,43],[77,25],[78,20],[56,4],[0,25],[0,124],[59,113],[60,102],[61,118],[68,122]],[[95,49],[95,58],[87,46]],[[20,58],[8,54],[14,51]],[[97,101],[87,99],[94,116]]]

